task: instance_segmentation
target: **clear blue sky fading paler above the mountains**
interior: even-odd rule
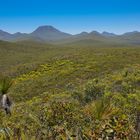
[[[29,33],[42,25],[71,34],[140,31],[140,0],[0,0],[0,29]]]

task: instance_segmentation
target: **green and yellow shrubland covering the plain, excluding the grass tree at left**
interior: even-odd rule
[[[0,139],[138,140],[140,48],[0,42],[12,115]]]

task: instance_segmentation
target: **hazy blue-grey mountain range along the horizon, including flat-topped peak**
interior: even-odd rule
[[[62,32],[53,26],[40,26],[35,31],[31,33],[8,33],[0,30],[0,40],[3,41],[24,41],[24,40],[35,40],[40,42],[51,42],[51,43],[71,43],[81,40],[92,40],[93,42],[124,42],[132,44],[140,44],[140,32],[133,31],[127,32],[122,35],[116,35],[114,33],[103,32],[99,33],[97,31],[81,32],[80,34],[72,35],[69,33]]]

